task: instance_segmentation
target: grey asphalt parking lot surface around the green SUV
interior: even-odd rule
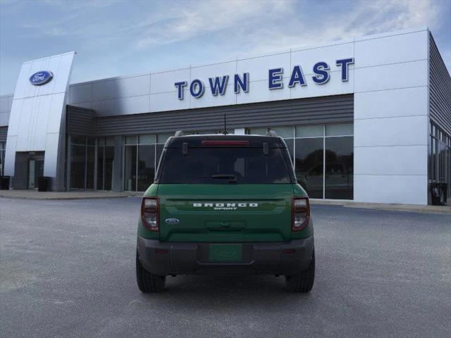
[[[140,199],[0,199],[0,337],[451,337],[451,215],[313,206],[316,280],[135,282]]]

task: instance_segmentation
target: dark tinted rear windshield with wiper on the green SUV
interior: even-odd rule
[[[159,183],[290,183],[290,169],[283,148],[180,148],[165,149]],[[286,153],[286,154],[285,154]]]

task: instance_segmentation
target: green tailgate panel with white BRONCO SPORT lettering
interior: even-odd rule
[[[159,184],[162,242],[285,242],[292,184]]]

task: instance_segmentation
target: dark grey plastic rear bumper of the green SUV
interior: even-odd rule
[[[283,253],[285,249],[294,251]],[[307,268],[313,250],[313,236],[290,242],[242,243],[242,261],[212,262],[208,258],[209,243],[137,238],[140,262],[154,275],[293,275]]]

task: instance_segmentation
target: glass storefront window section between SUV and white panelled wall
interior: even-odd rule
[[[273,130],[283,137],[299,184],[314,199],[353,199],[354,125],[297,125],[246,128],[247,134]]]

